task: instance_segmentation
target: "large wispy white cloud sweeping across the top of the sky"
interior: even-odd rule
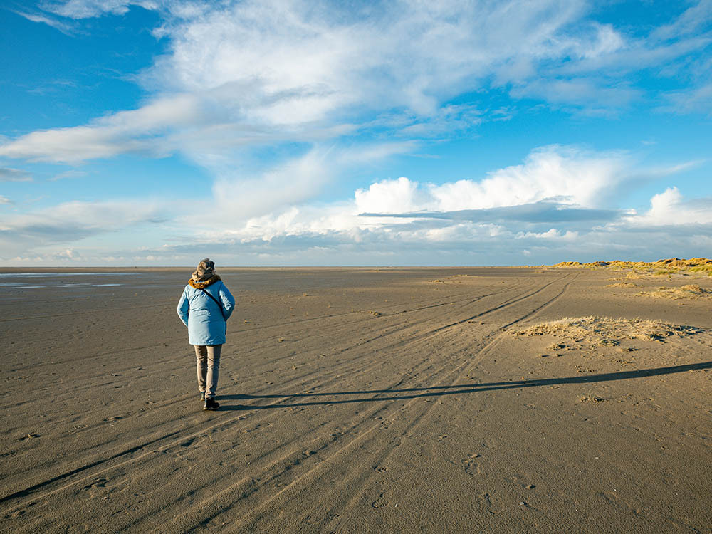
[[[281,141],[337,139],[401,112],[402,135],[468,130],[476,103],[444,102],[506,72],[515,93],[572,105],[617,106],[637,91],[605,80],[553,79],[552,61],[590,60],[624,48],[612,26],[582,21],[582,0],[419,1],[341,6],[300,0],[191,4],[72,0],[45,9],[82,19],[157,9],[169,53],[145,73],[155,96],[88,125],[41,130],[0,155],[76,163],[126,152],[217,153]],[[403,113],[403,110],[406,112]]]

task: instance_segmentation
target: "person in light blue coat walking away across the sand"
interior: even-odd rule
[[[215,263],[205,258],[198,263],[178,301],[178,316],[188,327],[188,342],[195,347],[198,390],[204,410],[216,410],[220,352],[225,343],[227,320],[235,299],[215,273]]]

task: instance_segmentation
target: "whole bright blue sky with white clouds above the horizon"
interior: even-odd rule
[[[712,257],[712,0],[0,0],[0,266]]]

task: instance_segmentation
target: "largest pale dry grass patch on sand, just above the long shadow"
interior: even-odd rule
[[[566,317],[530,326],[518,335],[552,335],[563,342],[584,345],[619,345],[621,340],[656,340],[666,337],[686,337],[700,333],[693,326],[671,325],[649,319],[613,319],[608,317]]]

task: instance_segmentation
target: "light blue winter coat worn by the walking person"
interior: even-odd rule
[[[222,311],[208,295],[191,286],[185,286],[178,302],[178,316],[188,327],[191,345],[222,345],[225,342],[226,320],[235,309],[235,299],[222,281],[204,288],[222,303]]]

